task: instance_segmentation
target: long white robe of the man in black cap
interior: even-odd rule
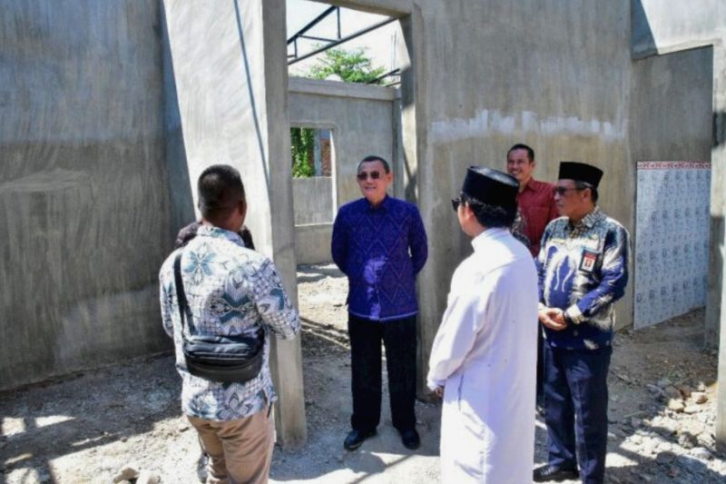
[[[525,246],[488,229],[451,280],[427,384],[445,387],[445,484],[532,481],[537,276]]]

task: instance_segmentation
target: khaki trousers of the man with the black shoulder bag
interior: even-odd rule
[[[209,484],[266,483],[275,444],[275,418],[261,410],[240,420],[215,421],[187,416],[209,455]]]

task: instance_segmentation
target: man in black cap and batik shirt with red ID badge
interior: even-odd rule
[[[604,479],[613,303],[628,282],[630,242],[595,204],[602,177],[589,164],[560,163],[554,202],[563,216],[547,225],[536,260],[548,459],[535,482]]]

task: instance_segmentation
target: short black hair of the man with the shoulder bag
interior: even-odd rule
[[[229,164],[212,164],[201,172],[197,189],[201,216],[210,222],[221,221],[245,201],[240,172]]]

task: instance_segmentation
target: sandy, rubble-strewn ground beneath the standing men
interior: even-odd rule
[[[417,451],[391,427],[387,394],[378,436],[357,451],[342,448],[350,411],[347,282],[330,265],[301,266],[298,276],[308,444],[276,447],[270,480],[439,481],[437,404],[417,402]],[[726,481],[712,433],[717,359],[701,351],[702,325],[703,312],[694,311],[618,335],[607,481]],[[142,472],[138,482],[198,482],[199,449],[179,392],[172,357],[161,355],[0,394],[0,483],[112,482],[125,467]],[[536,463],[544,462],[545,439],[538,420]]]

